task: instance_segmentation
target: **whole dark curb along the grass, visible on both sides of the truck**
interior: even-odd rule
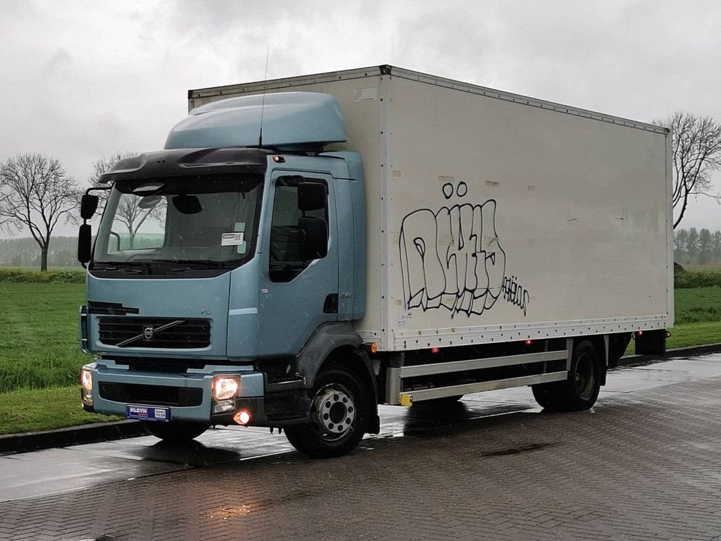
[[[666,351],[665,357],[627,355],[619,359],[619,364],[614,369],[654,364],[676,357],[691,357],[706,355],[707,353],[721,353],[721,343],[669,349]],[[66,447],[68,445],[92,444],[97,441],[111,441],[114,439],[146,436],[147,434],[138,421],[112,421],[110,423],[70,426],[68,428],[58,428],[57,430],[45,432],[6,434],[5,436],[0,436],[0,454],[37,451],[38,449]]]

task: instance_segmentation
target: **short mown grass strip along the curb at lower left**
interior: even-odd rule
[[[85,412],[80,405],[79,386],[0,394],[0,434],[52,430],[120,419]]]

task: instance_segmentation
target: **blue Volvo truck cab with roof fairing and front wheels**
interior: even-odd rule
[[[242,97],[194,110],[166,149],[102,176],[107,203],[81,258],[81,343],[98,356],[82,370],[84,409],[175,441],[213,425],[286,428],[320,456],[378,430],[374,392],[354,396],[373,374],[349,324],[365,310],[361,159],[323,151],[344,139],[327,94]],[[314,404],[322,365],[340,381]]]

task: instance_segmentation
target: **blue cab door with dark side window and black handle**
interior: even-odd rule
[[[301,211],[298,186],[303,182],[325,187],[322,208]],[[272,212],[264,239],[260,279],[260,351],[263,356],[295,356],[319,325],[338,318],[337,224],[332,177],[276,172],[269,201]],[[326,222],[327,253],[321,250],[304,255],[309,231],[301,224],[309,221]]]

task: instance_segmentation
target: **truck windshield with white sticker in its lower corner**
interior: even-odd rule
[[[255,248],[262,176],[208,175],[118,182],[110,192],[94,268],[168,263],[234,267]]]

